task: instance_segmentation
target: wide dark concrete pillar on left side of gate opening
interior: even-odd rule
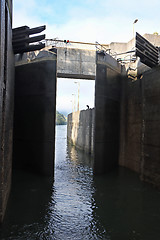
[[[56,54],[15,70],[13,166],[53,176]]]

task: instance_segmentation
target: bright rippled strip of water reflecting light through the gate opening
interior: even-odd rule
[[[59,148],[64,139],[56,141],[54,198],[50,202],[45,232],[54,239],[107,239],[93,214],[96,207],[93,159],[70,145],[66,145],[65,151]]]

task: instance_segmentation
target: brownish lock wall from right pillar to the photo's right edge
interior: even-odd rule
[[[123,83],[119,163],[160,188],[160,68]]]

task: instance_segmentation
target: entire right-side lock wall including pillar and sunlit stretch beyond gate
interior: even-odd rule
[[[68,116],[69,141],[89,152],[92,132],[95,174],[119,164],[160,188],[160,67],[132,81],[110,56],[98,54],[95,88],[95,110]]]

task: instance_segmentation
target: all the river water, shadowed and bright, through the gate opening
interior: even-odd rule
[[[160,192],[127,169],[94,177],[92,166],[56,126],[55,181],[13,172],[0,239],[159,240]]]

